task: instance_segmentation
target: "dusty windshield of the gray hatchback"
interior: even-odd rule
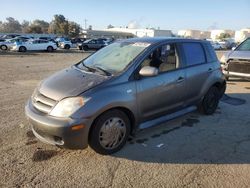
[[[82,64],[90,69],[101,68],[111,74],[122,72],[150,43],[115,42],[94,53]]]

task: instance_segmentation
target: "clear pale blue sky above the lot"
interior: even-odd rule
[[[116,27],[180,29],[250,28],[250,0],[6,0],[0,20],[51,21],[62,14],[83,28]]]

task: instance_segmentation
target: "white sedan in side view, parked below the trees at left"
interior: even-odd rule
[[[42,39],[34,39],[27,42],[16,42],[16,44],[11,47],[10,50],[18,51],[18,52],[26,52],[28,51],[41,51],[46,50],[48,52],[52,52],[57,49],[56,43],[52,41],[42,40]]]

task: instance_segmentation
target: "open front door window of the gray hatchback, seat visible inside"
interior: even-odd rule
[[[141,67],[152,66],[159,72],[167,72],[179,67],[179,58],[175,44],[166,44],[155,49],[141,64]]]

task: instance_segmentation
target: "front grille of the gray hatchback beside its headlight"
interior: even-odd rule
[[[35,91],[32,96],[32,104],[38,111],[48,114],[55,106],[56,101]]]

